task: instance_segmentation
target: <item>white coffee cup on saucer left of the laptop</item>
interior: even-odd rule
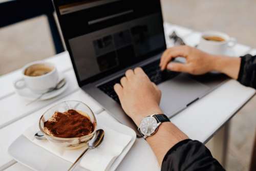
[[[25,75],[26,69],[36,65],[45,65],[49,68],[52,68],[52,70],[40,76]],[[45,61],[35,61],[29,63],[22,69],[22,76],[23,77],[21,79],[18,79],[14,82],[14,87],[17,90],[29,88],[33,93],[36,94],[46,93],[49,91],[49,89],[55,88],[59,78],[56,67],[52,63]]]

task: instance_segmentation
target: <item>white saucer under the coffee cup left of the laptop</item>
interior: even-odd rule
[[[59,80],[63,79],[63,76],[60,76]],[[15,82],[15,81],[14,81]],[[61,93],[63,93],[66,89],[68,88],[68,82],[66,79],[66,84],[65,86],[63,86],[61,89],[53,91],[53,92],[49,92],[46,93],[44,95],[42,95],[42,97],[40,97],[38,100],[47,100],[47,99],[51,99],[53,97],[56,97],[58,95],[60,95]],[[36,98],[38,98],[40,96],[40,94],[35,94],[34,92],[32,92],[28,87],[24,87],[23,89],[16,89],[14,86],[14,89],[16,91],[16,93],[23,97],[26,98],[28,100],[34,100]]]

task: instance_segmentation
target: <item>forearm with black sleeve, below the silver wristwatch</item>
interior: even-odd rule
[[[155,135],[146,138],[161,170],[224,170],[199,141],[192,141],[172,122],[160,125]]]

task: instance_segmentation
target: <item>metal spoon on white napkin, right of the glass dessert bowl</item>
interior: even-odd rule
[[[97,146],[99,146],[104,138],[104,131],[103,130],[97,130],[93,138],[89,141],[88,148],[86,148],[82,154],[76,159],[76,161],[72,164],[72,166],[68,169],[68,171],[73,170],[76,165],[80,162],[80,160],[83,158],[84,154],[88,151],[88,149],[94,149]]]

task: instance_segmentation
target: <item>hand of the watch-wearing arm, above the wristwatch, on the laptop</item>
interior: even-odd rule
[[[141,68],[126,71],[120,83],[115,84],[115,92],[124,112],[137,126],[144,117],[162,113],[159,108],[161,91]]]

